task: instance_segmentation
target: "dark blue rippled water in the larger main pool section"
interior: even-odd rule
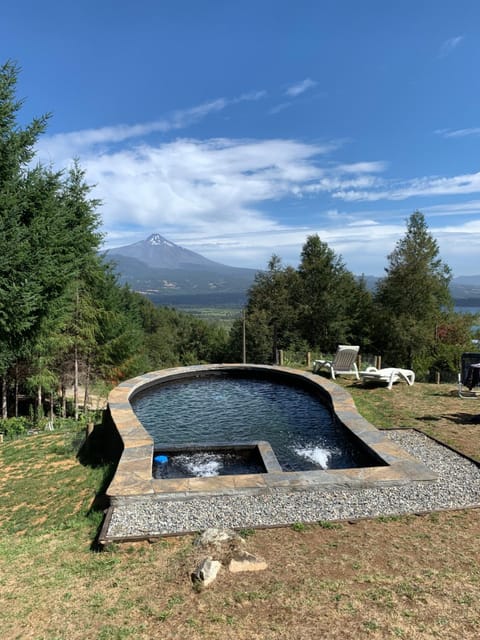
[[[308,389],[226,374],[158,384],[132,407],[154,448],[266,440],[283,471],[367,466],[347,430]]]

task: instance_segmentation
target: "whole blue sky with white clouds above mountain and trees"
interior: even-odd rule
[[[480,3],[16,0],[22,122],[77,157],[105,246],[159,232],[234,266],[296,265],[318,233],[381,275],[425,214],[455,275],[480,273]]]

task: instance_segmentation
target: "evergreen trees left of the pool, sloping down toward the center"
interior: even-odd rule
[[[73,413],[93,382],[116,384],[163,367],[221,359],[220,329],[118,285],[100,248],[100,203],[78,162],[70,170],[34,165],[49,116],[19,123],[18,68],[0,69],[1,418],[22,397],[35,415]]]

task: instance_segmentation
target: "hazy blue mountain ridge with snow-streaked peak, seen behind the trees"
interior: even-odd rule
[[[146,240],[107,251],[120,282],[156,304],[232,304],[242,306],[259,269],[230,267],[184,249],[153,233]],[[374,290],[380,278],[364,276]],[[456,306],[480,307],[480,275],[457,276],[450,291]]]

